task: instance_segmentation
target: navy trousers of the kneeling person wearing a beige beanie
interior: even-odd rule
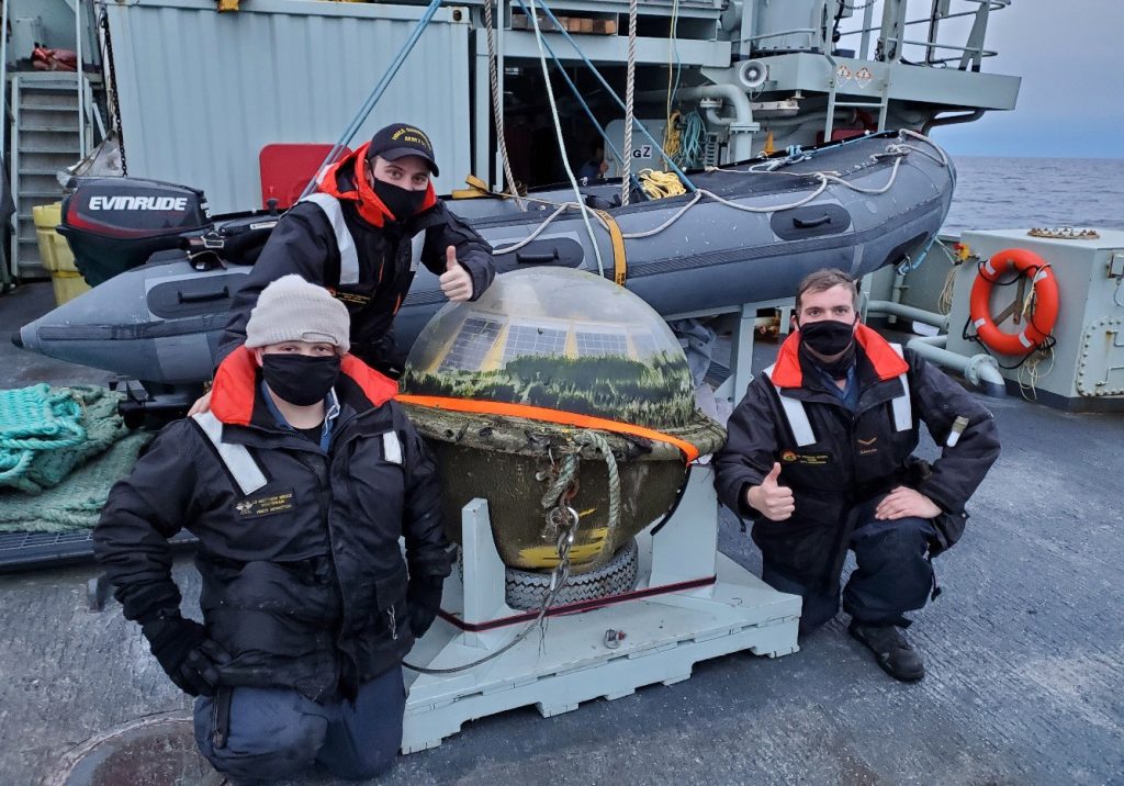
[[[196,699],[196,742],[215,769],[237,779],[275,780],[319,765],[336,777],[363,780],[393,764],[405,708],[401,667],[360,686],[354,703],[318,703],[289,688],[220,688],[214,698]],[[227,729],[220,746],[217,725]]]

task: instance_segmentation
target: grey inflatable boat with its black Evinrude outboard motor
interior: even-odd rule
[[[614,278],[664,317],[790,297],[824,266],[859,277],[915,259],[949,210],[955,172],[913,132],[888,132],[688,174],[681,196],[620,206],[617,182],[534,191],[522,204],[450,199],[495,249],[497,271],[536,265]],[[93,289],[24,326],[22,347],[155,388],[209,379],[230,298],[279,216],[211,219],[197,189],[85,181],[58,227]],[[445,302],[422,269],[395,322],[402,349]],[[169,387],[170,386],[170,387]]]

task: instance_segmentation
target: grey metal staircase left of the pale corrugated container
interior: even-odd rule
[[[78,74],[20,72],[11,74],[10,260],[19,277],[47,272],[39,261],[31,208],[62,199],[56,173],[82,157],[79,132]],[[83,80],[83,87],[89,84]]]

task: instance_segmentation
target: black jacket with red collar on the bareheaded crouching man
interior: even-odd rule
[[[722,502],[752,518],[753,540],[778,570],[808,586],[834,587],[846,555],[847,514],[862,502],[895,486],[921,491],[944,512],[937,517],[941,542],[950,546],[963,528],[964,504],[999,455],[995,422],[976,398],[924,359],[905,359],[873,331],[859,328],[858,412],[828,390],[819,373],[798,352],[799,334],[781,346],[772,379],[758,374],[729,418],[729,436],[715,458],[715,486]],[[899,374],[909,385],[913,427],[897,431],[892,399],[901,394]],[[785,396],[804,403],[815,442],[797,444],[774,381]],[[928,468],[913,457],[924,422],[944,445],[958,415],[969,425],[954,448],[943,448]],[[759,486],[780,462],[779,481],[792,489],[796,511],[773,522],[751,508],[746,491]]]

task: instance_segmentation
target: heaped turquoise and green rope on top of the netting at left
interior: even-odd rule
[[[0,390],[0,487],[36,494],[125,436],[106,388],[33,385]]]

